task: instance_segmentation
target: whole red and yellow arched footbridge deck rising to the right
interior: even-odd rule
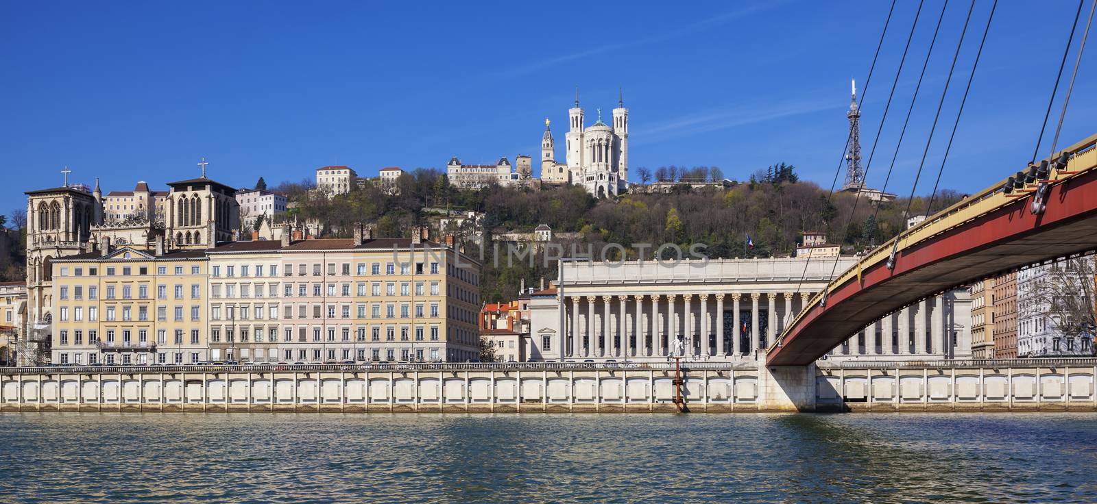
[[[835,277],[767,351],[802,366],[923,298],[1097,250],[1097,135],[927,218]]]

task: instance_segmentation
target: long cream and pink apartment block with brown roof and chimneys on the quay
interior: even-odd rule
[[[478,353],[479,264],[415,238],[251,241],[210,256],[211,358],[466,360]]]

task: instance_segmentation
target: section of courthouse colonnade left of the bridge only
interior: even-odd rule
[[[754,358],[813,294],[565,296],[559,347],[565,358]]]

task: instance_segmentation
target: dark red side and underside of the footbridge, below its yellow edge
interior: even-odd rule
[[[894,271],[868,266],[862,280],[839,286],[827,307],[790,328],[769,365],[805,365],[869,323],[919,299],[1019,266],[1097,249],[1097,177],[1052,187],[1045,213],[1029,197],[901,250]],[[889,245],[890,247],[890,245]]]

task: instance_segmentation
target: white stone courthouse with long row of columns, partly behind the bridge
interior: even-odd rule
[[[749,360],[858,257],[563,262],[530,298],[529,360]],[[835,264],[835,261],[838,264]],[[971,300],[955,289],[878,320],[828,354],[844,360],[971,356]]]

